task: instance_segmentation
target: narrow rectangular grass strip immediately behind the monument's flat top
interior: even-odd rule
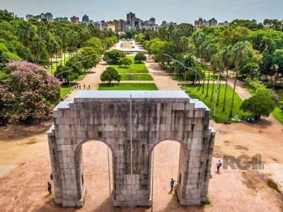
[[[98,90],[158,90],[154,83],[117,83],[108,86],[101,83]]]

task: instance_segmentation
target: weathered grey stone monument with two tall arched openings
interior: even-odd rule
[[[209,127],[209,112],[183,91],[81,91],[74,100],[61,102],[53,111],[54,125],[47,133],[55,201],[63,206],[82,206],[86,182],[81,146],[99,140],[112,151],[113,205],[129,206],[132,187],[134,206],[149,206],[151,151],[168,139],[181,143],[180,204],[207,201],[215,135]]]

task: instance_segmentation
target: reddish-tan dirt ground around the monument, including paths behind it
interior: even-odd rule
[[[146,63],[158,89],[179,90],[178,84],[149,60]],[[93,73],[81,82],[96,90],[99,75],[105,64],[99,64]],[[164,81],[166,79],[166,81]],[[169,87],[168,87],[169,86]],[[69,98],[75,95],[71,94]],[[258,124],[216,124],[212,179],[209,182],[209,201],[206,206],[181,207],[174,192],[169,192],[170,179],[177,179],[180,144],[163,141],[154,149],[154,211],[283,211],[283,201],[262,178],[250,170],[220,170],[216,161],[225,155],[260,154],[264,163],[262,175],[270,177],[283,189],[283,126],[273,117]],[[0,175],[0,211],[110,211],[107,146],[98,141],[83,144],[87,194],[83,208],[62,208],[54,204],[53,194],[47,192],[50,181],[50,156],[46,131],[52,119],[30,126],[0,127],[1,167],[18,166]],[[110,159],[110,173],[112,173]],[[4,173],[6,172],[6,173]],[[110,177],[112,189],[112,177]],[[114,208],[129,211],[129,208]],[[151,211],[151,208],[135,208]]]

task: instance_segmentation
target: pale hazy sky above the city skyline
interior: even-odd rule
[[[0,0],[0,8],[26,14],[50,12],[54,18],[81,17],[86,13],[92,20],[126,19],[132,11],[138,18],[156,18],[177,23],[194,23],[199,17],[224,20],[265,18],[283,19],[283,0]]]

